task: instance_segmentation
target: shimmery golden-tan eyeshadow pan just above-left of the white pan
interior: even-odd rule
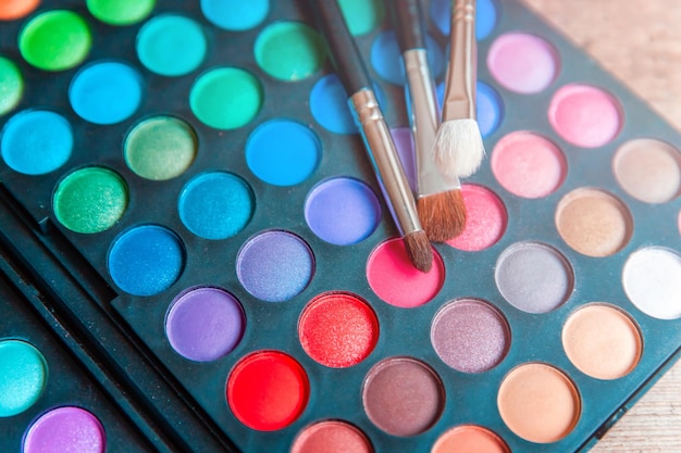
[[[615,196],[598,189],[580,188],[560,200],[556,210],[560,237],[587,256],[610,256],[631,239],[631,213]]]

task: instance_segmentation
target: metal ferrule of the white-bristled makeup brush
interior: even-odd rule
[[[451,119],[476,118],[475,0],[455,0],[451,8],[450,51],[445,79],[443,123]]]

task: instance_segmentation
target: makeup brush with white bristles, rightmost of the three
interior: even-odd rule
[[[445,175],[466,177],[478,171],[485,156],[475,116],[475,0],[454,0],[449,39],[445,100],[434,154]]]

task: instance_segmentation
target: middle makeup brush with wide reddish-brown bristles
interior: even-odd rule
[[[463,231],[466,204],[458,176],[443,174],[433,156],[439,114],[419,0],[394,0],[393,21],[407,75],[409,119],[417,155],[417,212],[428,238],[444,242]]]

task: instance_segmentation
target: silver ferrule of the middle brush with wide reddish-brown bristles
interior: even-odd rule
[[[411,131],[417,158],[418,194],[426,197],[461,188],[459,178],[444,175],[436,166],[433,146],[439,126],[435,84],[428,65],[425,49],[411,49],[403,54],[407,72]]]

